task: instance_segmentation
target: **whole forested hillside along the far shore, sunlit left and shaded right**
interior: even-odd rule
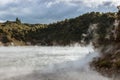
[[[51,24],[26,24],[17,18],[0,23],[0,41],[1,45],[70,45],[88,44],[96,37],[94,40],[102,44],[115,19],[116,13],[110,12],[90,12]]]

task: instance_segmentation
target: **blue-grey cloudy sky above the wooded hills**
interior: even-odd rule
[[[48,24],[87,12],[116,12],[120,0],[0,0],[0,22]]]

